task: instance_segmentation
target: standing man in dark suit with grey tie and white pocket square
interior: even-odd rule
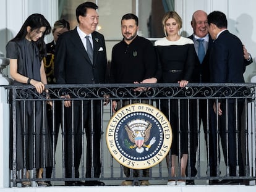
[[[96,9],[98,9],[98,6],[93,2],[80,4],[76,9],[76,17],[79,25],[74,30],[67,31],[59,36],[56,43],[55,58],[57,83],[105,83],[107,65],[106,46],[104,36],[95,31],[98,25],[98,13]],[[64,97],[72,98],[72,95],[66,94]],[[74,103],[74,106],[71,107],[72,103]],[[86,177],[98,178],[101,173],[101,121],[96,118],[92,120],[91,117],[101,117],[100,101],[84,101],[83,106],[80,101],[64,101],[64,106],[66,119],[66,177],[79,177],[79,164],[82,155],[82,130],[85,128],[87,138]],[[81,107],[83,107],[83,113],[81,113]],[[94,174],[91,172],[92,167],[94,168]],[[74,169],[74,172],[72,172],[72,169]],[[100,181],[90,181],[84,184],[105,185]],[[83,183],[66,182],[66,185],[83,185]]]

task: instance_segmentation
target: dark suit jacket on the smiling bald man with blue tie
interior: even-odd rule
[[[194,40],[194,35],[190,35],[188,38],[191,40]],[[195,59],[195,67],[192,75],[192,80],[190,82],[192,83],[210,83],[210,65],[209,65],[209,57],[210,57],[210,51],[211,46],[213,44],[213,40],[211,39],[211,36],[209,35],[209,42],[208,42],[208,48],[207,52],[205,54],[205,57],[203,58],[202,64],[200,64],[200,61],[198,57],[196,56]]]

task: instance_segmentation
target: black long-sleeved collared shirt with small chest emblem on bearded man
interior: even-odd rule
[[[134,83],[154,77],[157,69],[153,44],[140,36],[127,44],[124,40],[112,49],[110,82]]]

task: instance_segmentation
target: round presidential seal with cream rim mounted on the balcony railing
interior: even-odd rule
[[[168,154],[172,139],[168,119],[148,104],[122,107],[106,129],[109,152],[130,169],[148,169],[159,164]]]

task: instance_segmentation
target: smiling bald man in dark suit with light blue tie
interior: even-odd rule
[[[193,28],[193,35],[189,36],[191,40],[194,41],[195,52],[197,53],[197,59],[195,62],[194,72],[192,75],[192,83],[209,83],[210,82],[210,69],[209,69],[209,56],[213,40],[208,34],[208,23],[207,23],[207,13],[203,10],[197,10],[192,15],[191,26]],[[203,40],[204,56],[202,61],[198,57],[198,46],[199,41]],[[200,95],[202,96],[202,95]],[[198,105],[198,108],[197,108]],[[189,161],[190,174],[187,176],[195,177],[197,175],[197,169],[195,168],[195,163],[197,159],[197,146],[198,146],[198,136],[200,133],[200,124],[203,123],[203,131],[205,133],[205,142],[207,144],[207,150],[210,152],[211,144],[207,139],[207,132],[209,127],[207,127],[207,101],[205,99],[191,100],[190,104],[190,148],[189,148]],[[197,118],[198,117],[198,118]],[[209,148],[209,149],[208,149]],[[211,160],[210,160],[211,161]],[[211,162],[210,162],[211,165]],[[186,180],[187,185],[194,185],[194,180]]]

